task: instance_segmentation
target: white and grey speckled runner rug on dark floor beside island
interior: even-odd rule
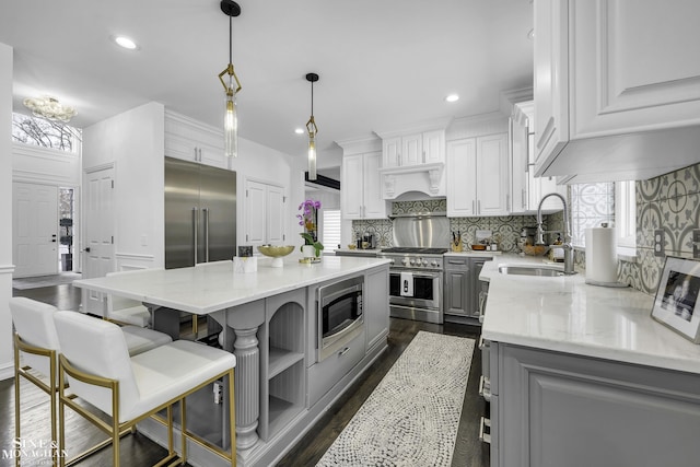
[[[474,345],[418,332],[317,466],[450,466]]]

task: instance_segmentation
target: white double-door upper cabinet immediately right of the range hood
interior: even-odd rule
[[[447,143],[447,215],[506,215],[508,133]]]

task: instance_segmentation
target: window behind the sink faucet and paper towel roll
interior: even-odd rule
[[[607,223],[617,230],[617,244],[634,248],[637,200],[634,182],[571,185],[571,230],[574,246],[585,246],[585,230]]]

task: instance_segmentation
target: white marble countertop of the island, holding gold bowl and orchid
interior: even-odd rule
[[[202,315],[389,262],[340,256],[325,256],[314,265],[299,262],[295,255],[283,259],[282,268],[272,268],[272,258],[259,257],[257,272],[234,273],[233,261],[217,261],[77,280],[73,285]]]

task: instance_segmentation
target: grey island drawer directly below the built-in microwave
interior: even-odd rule
[[[335,355],[308,367],[308,407],[313,407],[364,357],[364,330]]]

